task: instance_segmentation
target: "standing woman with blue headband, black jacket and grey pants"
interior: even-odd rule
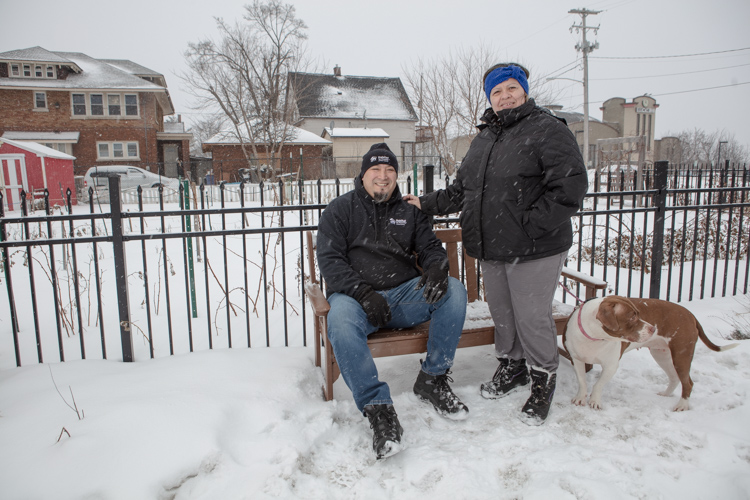
[[[530,99],[529,72],[497,64],[484,75],[490,102],[456,180],[417,198],[430,215],[461,212],[463,244],[479,259],[500,362],[481,386],[488,399],[526,386],[523,420],[544,423],[555,392],[557,331],[552,300],[573,243],[571,217],[588,188],[565,122]]]

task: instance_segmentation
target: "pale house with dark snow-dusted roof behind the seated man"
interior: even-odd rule
[[[385,140],[373,142],[385,142],[402,161],[413,149],[417,115],[399,78],[345,76],[336,66],[333,74],[289,73],[288,94],[291,121],[304,130],[382,129]]]

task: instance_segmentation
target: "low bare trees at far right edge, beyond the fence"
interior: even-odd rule
[[[729,160],[730,163],[742,164],[750,161],[750,151],[746,146],[741,145],[734,134],[726,130],[706,132],[703,129],[693,128],[692,130],[683,130],[677,134],[667,133],[667,136],[674,136],[680,140],[681,156],[679,163],[723,163]],[[719,143],[721,144],[721,159],[719,159]]]

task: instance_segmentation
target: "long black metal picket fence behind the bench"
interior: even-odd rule
[[[695,172],[689,187],[666,163],[645,175],[648,189],[611,177],[586,196],[567,266],[607,281],[608,294],[748,293],[747,171]],[[0,367],[307,345],[302,283],[315,271],[304,232],[330,199],[323,182],[280,182],[252,202],[225,200],[221,186],[213,204],[205,187],[181,187],[179,205],[146,203],[139,191],[133,210],[118,183],[110,179],[110,205],[52,209],[46,198],[41,216],[26,204],[3,213],[0,194]]]

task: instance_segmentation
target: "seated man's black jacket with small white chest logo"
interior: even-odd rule
[[[396,187],[375,203],[360,177],[354,191],[331,201],[318,224],[317,258],[328,293],[359,298],[370,288],[396,287],[448,257],[425,214],[406,203]],[[415,256],[416,252],[416,256]]]

